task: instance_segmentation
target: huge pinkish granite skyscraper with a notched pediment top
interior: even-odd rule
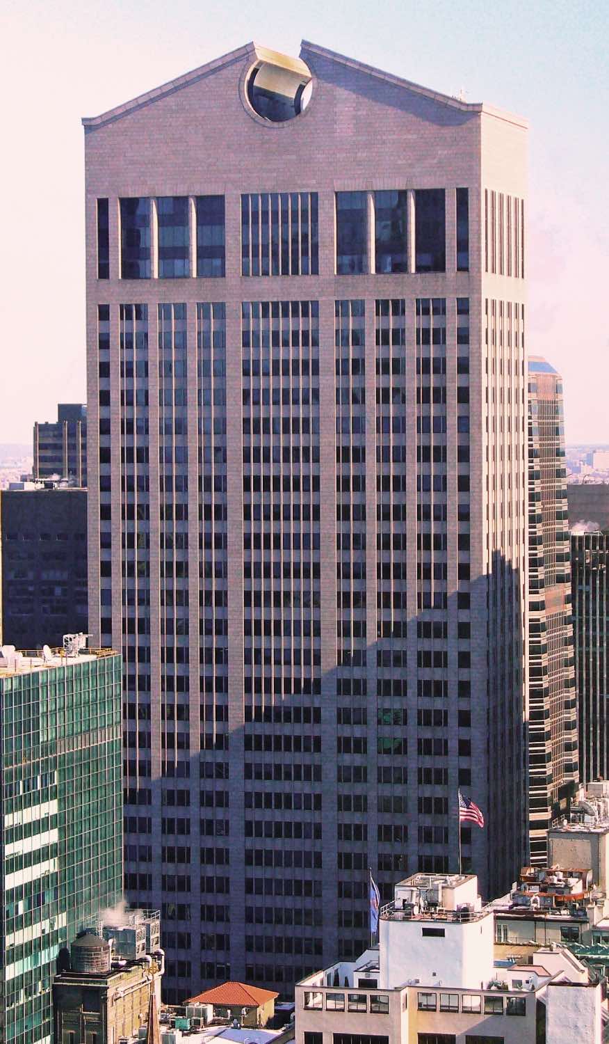
[[[457,868],[459,787],[485,894],[527,848],[526,124],[310,43],[83,122],[127,894],[170,998],[289,991],[368,867]]]

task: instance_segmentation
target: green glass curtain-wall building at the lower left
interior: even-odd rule
[[[60,947],[122,897],[121,658],[0,659],[0,1041],[52,1039]]]

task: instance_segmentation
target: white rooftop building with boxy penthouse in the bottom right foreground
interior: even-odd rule
[[[602,988],[567,950],[494,960],[474,876],[399,882],[379,945],[310,975],[295,1000],[296,1044],[536,1044],[543,1024],[546,1044],[602,1041]]]

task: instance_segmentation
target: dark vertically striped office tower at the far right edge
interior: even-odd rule
[[[571,582],[580,739],[584,785],[609,778],[609,531],[571,530]]]

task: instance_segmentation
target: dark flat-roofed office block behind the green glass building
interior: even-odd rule
[[[0,492],[0,643],[87,632],[87,490]]]

